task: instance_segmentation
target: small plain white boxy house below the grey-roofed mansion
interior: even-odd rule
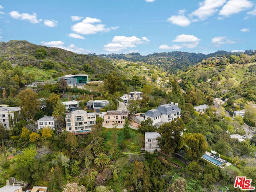
[[[158,141],[156,140],[160,137],[157,132],[145,132],[145,150],[147,152],[154,152],[154,150],[160,150]]]

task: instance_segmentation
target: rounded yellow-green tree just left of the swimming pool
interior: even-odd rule
[[[198,161],[207,150],[207,142],[204,135],[194,133],[186,138],[187,155],[191,160]]]

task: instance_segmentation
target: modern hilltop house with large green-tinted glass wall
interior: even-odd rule
[[[86,74],[65,75],[63,77],[59,77],[58,81],[60,79],[66,80],[67,85],[70,87],[84,86],[84,84],[87,84],[89,81],[88,75],[86,75]]]

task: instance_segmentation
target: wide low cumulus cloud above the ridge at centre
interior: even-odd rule
[[[104,50],[108,52],[120,52],[128,48],[137,47],[138,44],[145,44],[150,42],[146,37],[137,38],[136,36],[126,37],[126,36],[114,36],[111,43],[104,45]]]

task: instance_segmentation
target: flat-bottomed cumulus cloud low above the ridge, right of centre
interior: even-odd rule
[[[201,39],[197,38],[194,35],[186,35],[186,34],[182,34],[182,35],[178,35],[176,36],[176,38],[174,40],[172,40],[173,42],[180,42],[182,44],[180,45],[172,45],[172,46],[168,46],[166,44],[160,45],[159,49],[166,49],[166,50],[177,50],[180,48],[195,48],[196,46],[198,46],[199,41]]]

